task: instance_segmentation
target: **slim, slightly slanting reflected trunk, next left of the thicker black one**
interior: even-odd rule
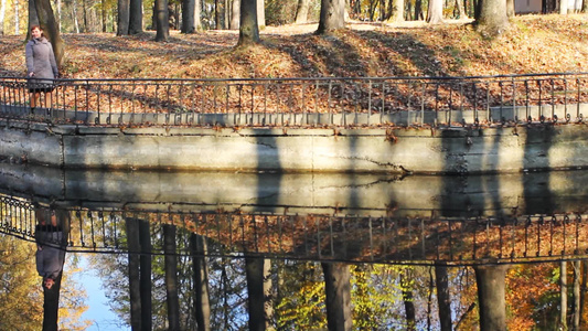
[[[195,316],[199,331],[211,330],[211,303],[209,297],[209,267],[206,265],[206,241],[191,234],[190,245],[194,266]]]

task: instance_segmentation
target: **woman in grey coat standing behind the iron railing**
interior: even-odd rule
[[[53,79],[58,76],[57,64],[53,54],[53,46],[43,35],[41,26],[31,26],[31,40],[24,49],[26,55],[26,77],[29,77],[29,92],[31,93],[31,107],[39,106],[41,93],[45,94],[43,105],[46,107],[47,94],[51,98],[51,92],[54,88]]]

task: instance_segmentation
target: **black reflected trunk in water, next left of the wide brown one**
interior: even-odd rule
[[[245,259],[247,274],[247,307],[249,309],[249,331],[266,330],[264,295],[264,259],[248,257]]]

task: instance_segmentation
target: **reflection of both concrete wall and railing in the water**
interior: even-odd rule
[[[33,239],[34,201],[63,215],[72,252],[133,250],[128,226],[140,220],[150,226],[151,254],[170,253],[161,233],[171,225],[178,243],[192,234],[214,242],[209,256],[449,265],[577,259],[588,255],[586,175],[124,174],[14,166],[2,173],[2,232]],[[179,244],[174,254],[191,249]]]

